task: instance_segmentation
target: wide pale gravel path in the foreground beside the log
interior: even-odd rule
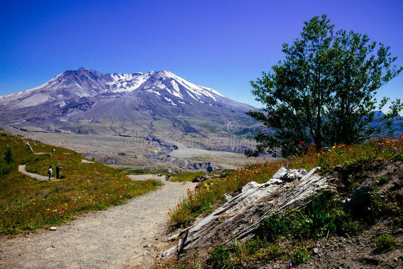
[[[196,184],[164,183],[157,191],[79,216],[56,231],[0,236],[0,268],[148,267],[159,242],[168,238],[168,208]]]

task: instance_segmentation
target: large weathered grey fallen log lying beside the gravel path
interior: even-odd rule
[[[275,213],[306,206],[310,198],[329,188],[329,180],[319,176],[318,168],[287,170],[283,166],[264,184],[252,183],[250,189],[233,197],[209,216],[191,227],[174,248],[161,253],[192,253],[193,250],[254,236],[259,222]]]

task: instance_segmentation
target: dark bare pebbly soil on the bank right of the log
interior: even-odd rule
[[[403,161],[360,161],[353,165],[339,166],[331,173],[335,177],[340,197],[351,197],[357,187],[378,185],[382,212],[377,217],[363,224],[366,229],[358,236],[329,236],[319,240],[304,242],[310,251],[310,259],[298,268],[403,268],[403,231],[401,223],[396,223],[395,212],[403,206]],[[387,178],[385,183],[379,179]],[[373,198],[373,197],[372,197]],[[357,214],[357,221],[368,220],[370,212]],[[379,235],[391,234],[396,240],[396,248],[379,252],[374,243]],[[279,244],[293,251],[301,242],[283,240]],[[275,260],[249,264],[254,268],[290,268],[289,260]]]

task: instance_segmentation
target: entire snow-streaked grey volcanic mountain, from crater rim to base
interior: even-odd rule
[[[133,131],[154,137],[228,136],[256,127],[245,114],[250,109],[254,108],[169,71],[102,74],[80,68],[39,87],[1,96],[0,122],[25,129],[123,136]]]

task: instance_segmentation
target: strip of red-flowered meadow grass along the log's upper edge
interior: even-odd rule
[[[388,160],[402,157],[403,137],[396,139],[380,139],[370,141],[363,145],[334,145],[328,149],[316,150],[313,145],[309,151],[302,156],[291,159],[256,162],[238,168],[226,178],[211,179],[201,182],[195,190],[188,190],[184,197],[174,209],[168,212],[173,225],[187,226],[190,222],[205,210],[225,203],[225,193],[239,192],[249,181],[264,183],[271,179],[274,173],[284,163],[290,169],[304,168],[306,170],[321,167],[321,171],[331,170],[337,165],[351,164],[359,160]]]

